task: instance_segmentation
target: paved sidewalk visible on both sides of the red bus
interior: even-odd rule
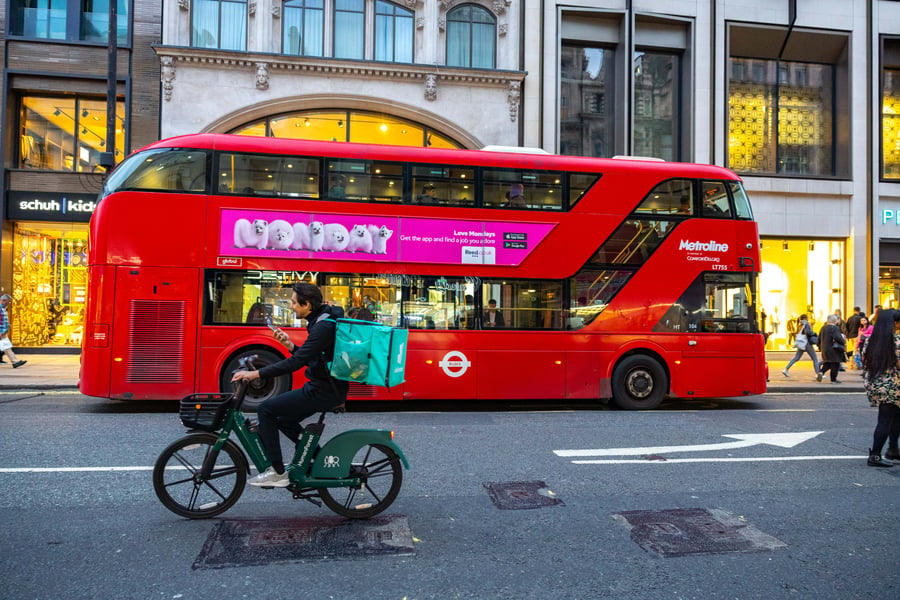
[[[826,377],[816,382],[812,361],[804,355],[793,367],[791,376],[781,374],[794,356],[793,352],[767,352],[770,392],[864,392],[859,371],[844,371],[838,376],[840,384],[832,385]],[[13,369],[8,363],[0,364],[0,390],[77,390],[77,354],[21,354],[28,364]]]

